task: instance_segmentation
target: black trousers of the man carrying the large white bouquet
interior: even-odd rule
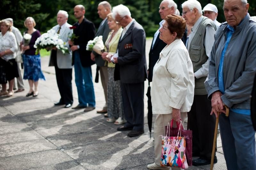
[[[54,50],[52,50],[54,51]],[[55,67],[55,74],[57,85],[60,92],[60,103],[64,104],[73,104],[73,95],[72,95],[72,69],[59,69],[57,66],[57,57],[52,55],[53,63]]]

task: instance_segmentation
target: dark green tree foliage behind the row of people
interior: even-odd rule
[[[161,18],[159,16],[159,4],[162,0],[108,0],[113,6],[124,4],[128,6],[132,13],[132,17],[136,19],[145,29],[147,36],[153,36]],[[181,4],[185,0],[174,0],[181,13]],[[224,22],[223,15],[223,1],[224,0],[199,0],[202,8],[208,4],[215,4],[218,8],[219,15],[217,20]],[[21,32],[26,28],[23,25],[27,17],[33,17],[36,21],[36,29],[42,33],[46,32],[57,24],[56,14],[59,10],[68,11],[68,23],[73,25],[76,18],[73,15],[73,8],[77,4],[85,6],[85,17],[91,20],[96,28],[99,27],[101,19],[97,14],[97,6],[101,0],[2,0],[0,1],[0,19],[13,18],[14,26],[20,29]],[[256,1],[248,1],[250,4],[249,13],[251,16],[256,15]]]

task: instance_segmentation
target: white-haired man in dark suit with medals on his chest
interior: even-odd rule
[[[124,117],[127,120],[117,130],[131,130],[127,136],[135,137],[144,133],[146,34],[143,27],[131,17],[129,9],[122,4],[113,8],[113,18],[124,28],[117,53],[112,57],[112,61],[118,63],[115,67],[115,80],[121,80]]]

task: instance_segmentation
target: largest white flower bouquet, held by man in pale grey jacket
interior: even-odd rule
[[[36,54],[40,49],[51,50],[53,47],[61,50],[63,54],[69,53],[68,48],[64,47],[65,42],[60,39],[60,35],[57,34],[53,29],[43,33],[40,37],[36,39],[34,47],[36,48]]]

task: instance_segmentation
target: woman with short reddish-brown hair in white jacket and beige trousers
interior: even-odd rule
[[[164,18],[160,28],[160,39],[167,45],[160,52],[159,60],[153,69],[151,87],[152,111],[156,115],[154,127],[155,163],[149,164],[148,169],[170,169],[161,166],[162,145],[159,135],[164,135],[164,126],[170,119],[180,122],[193,103],[194,71],[188,51],[180,40],[186,29],[185,20],[171,14]],[[174,123],[176,124],[176,123]],[[172,170],[180,169],[173,168]]]

